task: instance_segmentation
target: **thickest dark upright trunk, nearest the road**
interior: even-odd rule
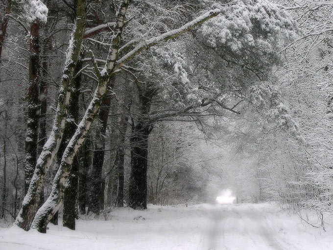
[[[153,129],[149,123],[148,115],[150,104],[156,90],[150,90],[137,82],[139,90],[139,116],[136,124],[132,124],[131,132],[131,175],[129,182],[129,200],[131,208],[147,208],[147,163],[148,163],[148,136]]]

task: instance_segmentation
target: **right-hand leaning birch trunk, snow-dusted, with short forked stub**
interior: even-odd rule
[[[117,17],[118,22],[115,27],[116,35],[113,38],[106,64],[106,67],[108,69],[105,70],[102,74],[99,72],[95,63],[95,58],[93,56],[93,63],[99,80],[98,86],[95,90],[94,97],[91,100],[88,109],[86,110],[86,113],[84,114],[80,124],[75,131],[75,134],[71,138],[71,141],[68,143],[64,151],[58,172],[53,179],[51,193],[46,202],[37,211],[36,216],[32,222],[31,227],[34,229],[38,229],[40,232],[46,231],[45,222],[48,223],[48,221],[52,218],[53,214],[58,211],[58,208],[63,201],[64,189],[67,186],[67,180],[71,172],[71,164],[73,162],[73,158],[76,155],[78,149],[84,143],[87,133],[90,130],[90,126],[95,120],[102,98],[106,93],[107,86],[112,77],[112,72],[114,70],[115,62],[118,55],[120,37],[122,33],[122,28],[125,24],[125,15],[128,8],[128,3],[128,0],[124,0],[119,7],[119,15]],[[111,74],[108,74],[107,71]]]

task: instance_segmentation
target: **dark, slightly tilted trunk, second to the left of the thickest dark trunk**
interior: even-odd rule
[[[102,106],[98,112],[98,120],[101,124],[98,126],[96,131],[96,145],[93,153],[89,211],[97,215],[99,214],[99,209],[101,208],[101,192],[104,192],[104,190],[101,190],[103,183],[102,169],[104,163],[105,133],[110,111],[111,98],[111,95],[105,96],[105,98],[102,100]]]

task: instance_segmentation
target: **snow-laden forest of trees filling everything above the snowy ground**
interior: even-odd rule
[[[331,213],[332,1],[1,0],[0,217]]]

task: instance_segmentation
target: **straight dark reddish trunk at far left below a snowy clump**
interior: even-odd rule
[[[30,29],[30,57],[29,57],[29,87],[28,114],[25,137],[24,162],[24,193],[30,185],[37,163],[38,122],[39,122],[39,20],[31,24]]]

